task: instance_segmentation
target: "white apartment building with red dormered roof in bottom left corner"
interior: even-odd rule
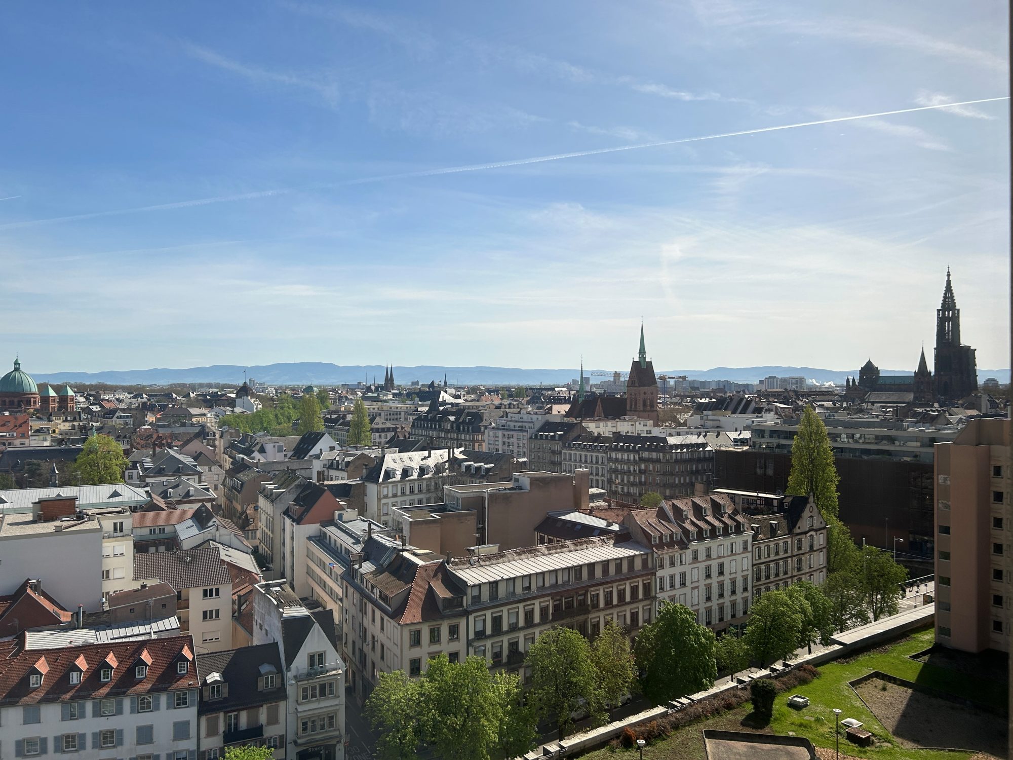
[[[21,635],[0,653],[3,757],[194,760],[190,636],[38,648]]]

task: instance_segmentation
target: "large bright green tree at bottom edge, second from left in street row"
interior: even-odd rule
[[[440,655],[431,660],[419,697],[427,746],[445,760],[489,760],[499,743],[501,714],[484,658],[451,663]]]

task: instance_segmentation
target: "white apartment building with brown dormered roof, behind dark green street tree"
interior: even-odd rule
[[[697,622],[717,633],[745,625],[753,531],[726,497],[690,497],[663,502],[655,510],[629,510],[623,524],[654,552],[658,604],[689,607]]]

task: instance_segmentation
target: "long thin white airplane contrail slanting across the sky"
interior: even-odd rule
[[[572,153],[556,153],[551,156],[534,156],[531,158],[515,158],[505,161],[494,161],[491,163],[468,164],[464,166],[448,166],[441,169],[419,169],[418,171],[405,171],[397,174],[380,174],[377,176],[358,177],[355,179],[344,179],[337,182],[317,182],[313,184],[301,185],[297,187],[280,187],[269,191],[258,191],[256,193],[240,193],[234,196],[218,196],[215,198],[200,198],[192,201],[178,201],[176,203],[158,204],[155,206],[140,206],[133,209],[118,209],[114,211],[97,211],[89,214],[75,214],[67,217],[51,217],[49,219],[32,219],[24,222],[9,222],[0,224],[0,230],[17,229],[20,227],[33,227],[43,224],[57,224],[60,222],[75,222],[83,219],[96,219],[99,217],[120,216],[123,214],[138,214],[146,211],[165,211],[168,209],[183,209],[190,206],[207,206],[209,204],[228,203],[231,201],[247,201],[256,198],[268,198],[270,196],[281,196],[287,193],[295,193],[300,189],[309,188],[329,188],[342,187],[353,184],[365,184],[368,182],[385,182],[391,179],[410,179],[412,177],[439,176],[440,174],[458,174],[465,171],[486,171],[489,169],[501,169],[509,166],[524,166],[532,163],[545,163],[547,161],[560,161],[565,158],[581,158],[583,156],[598,156],[606,153],[619,153],[627,150],[642,150],[644,148],[661,148],[667,145],[682,145],[684,143],[697,143],[704,140],[720,140],[728,137],[742,137],[745,135],[759,135],[764,132],[779,132],[781,130],[795,130],[800,127],[816,127],[823,124],[839,124],[841,122],[855,122],[860,119],[877,119],[879,117],[892,117],[900,113],[914,113],[920,110],[938,110],[940,108],[951,108],[959,105],[975,105],[977,103],[991,103],[998,100],[1009,100],[1009,95],[1001,97],[984,97],[978,100],[961,100],[952,103],[936,103],[932,105],[918,105],[912,108],[897,108],[894,110],[881,110],[876,113],[860,113],[852,117],[835,117],[834,119],[820,119],[813,122],[797,122],[795,124],[782,124],[776,127],[760,127],[752,130],[738,130],[736,132],[721,132],[716,135],[702,135],[698,137],[685,137],[679,140],[663,140],[654,143],[639,143],[636,145],[619,145],[612,148],[597,148],[595,150],[581,150]],[[18,198],[18,196],[13,196]],[[6,199],[0,199],[6,200]]]

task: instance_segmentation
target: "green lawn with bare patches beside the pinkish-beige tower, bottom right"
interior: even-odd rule
[[[828,663],[820,668],[821,677],[809,684],[794,689],[794,693],[809,698],[809,706],[801,711],[788,707],[788,693],[778,694],[774,707],[774,715],[769,729],[763,733],[790,734],[806,737],[816,747],[834,747],[834,713],[833,708],[843,710],[841,717],[855,717],[864,724],[866,731],[875,735],[877,744],[869,749],[855,747],[842,737],[842,754],[847,748],[847,754],[858,758],[872,760],[965,760],[971,753],[938,752],[933,750],[908,749],[902,747],[888,732],[879,724],[875,716],[848,685],[860,676],[874,670],[889,673],[920,685],[932,686],[951,694],[973,698],[993,704],[1006,704],[1006,686],[1003,683],[969,678],[965,673],[937,666],[919,663],[909,658],[921,650],[932,645],[931,630],[916,633],[883,650],[874,650],[859,655],[848,662]],[[743,719],[750,713],[749,703],[743,707],[723,714],[699,720],[675,732],[671,737],[654,742],[644,749],[645,760],[683,760],[683,758],[704,757],[704,729],[721,729],[725,731],[755,731]],[[812,719],[806,719],[812,718]],[[1001,719],[1001,718],[1000,718]],[[589,753],[589,760],[605,760],[617,751],[610,748]],[[619,750],[625,754],[635,750]]]

